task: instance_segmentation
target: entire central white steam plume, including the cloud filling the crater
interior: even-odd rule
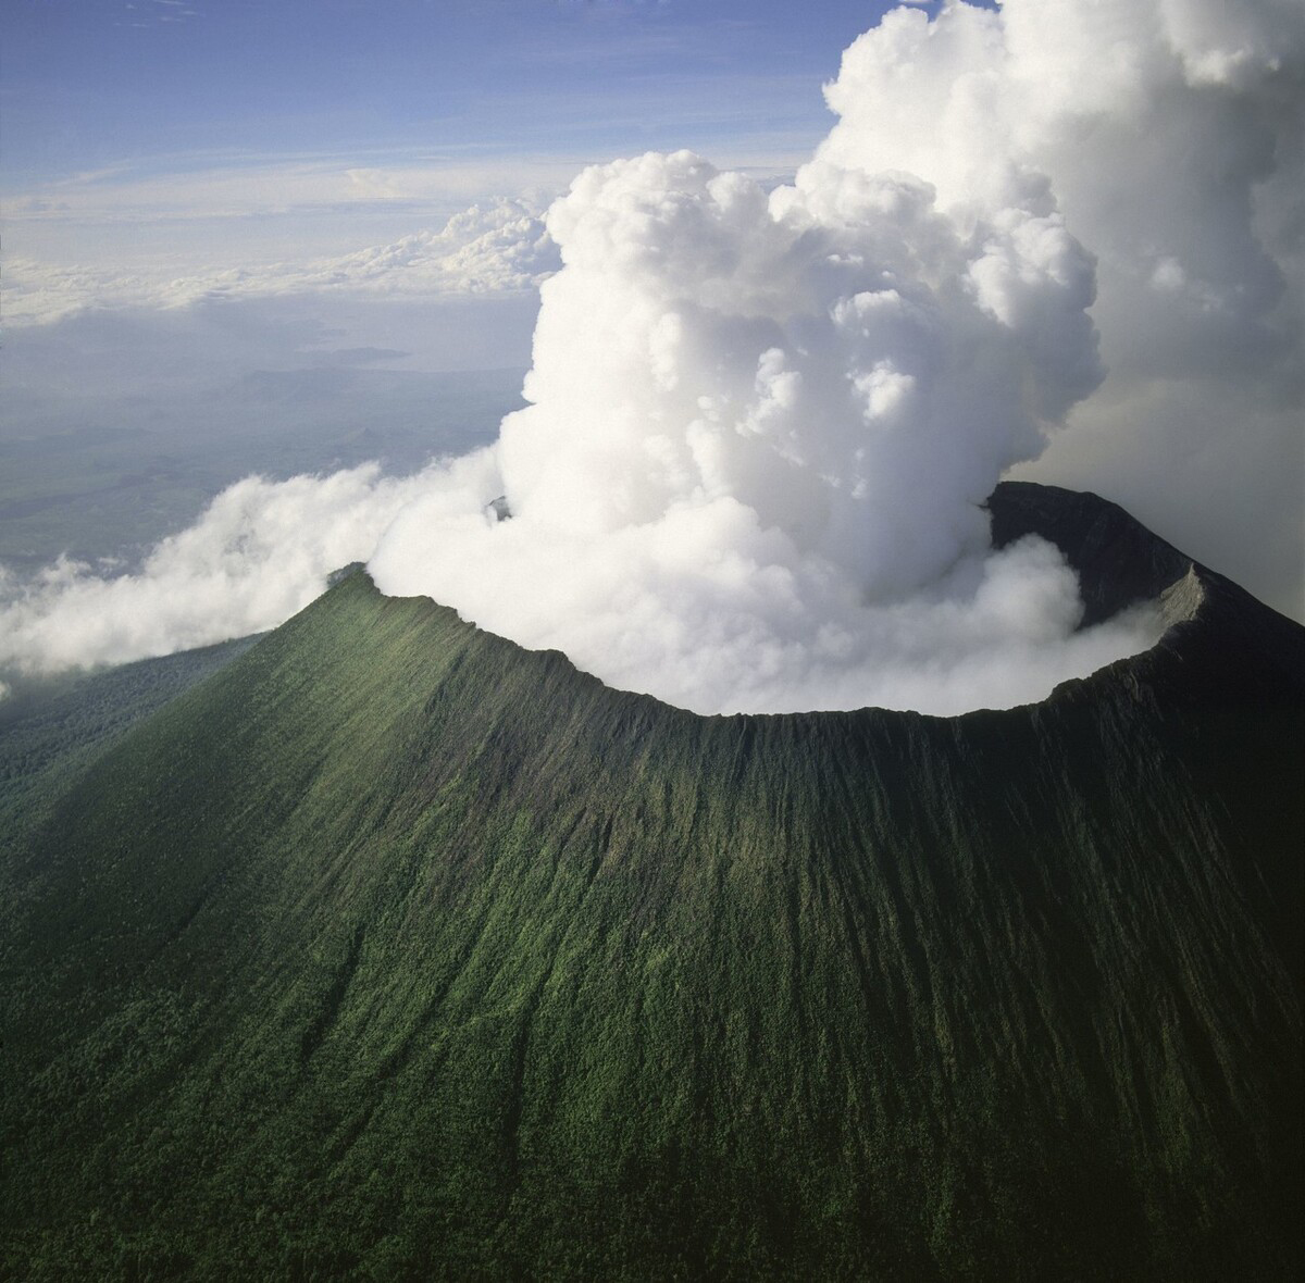
[[[903,172],[767,196],[649,154],[548,228],[512,519],[414,504],[384,591],[702,713],[1017,703],[1154,638],[1075,636],[1048,544],[987,552],[994,482],[1100,379],[1092,260],[1044,193],[962,224]]]

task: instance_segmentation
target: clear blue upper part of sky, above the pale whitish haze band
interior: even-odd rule
[[[603,150],[671,146],[685,128],[689,141],[813,129],[821,80],[883,8],[10,0],[7,164],[50,179],[204,153]],[[767,100],[737,99],[756,85]]]

